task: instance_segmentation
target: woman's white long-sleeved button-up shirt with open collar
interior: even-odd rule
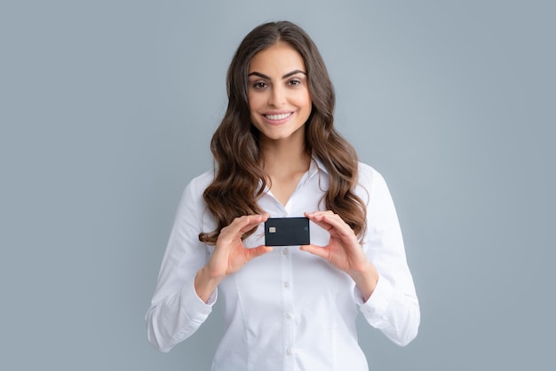
[[[353,280],[298,246],[274,247],[223,280],[205,304],[195,293],[196,272],[214,249],[199,241],[216,222],[203,191],[212,171],[195,178],[179,203],[158,284],[147,311],[147,335],[159,351],[170,351],[195,333],[223,296],[226,333],[216,351],[214,371],[363,371],[367,360],[357,343],[358,310],[373,328],[404,345],[416,335],[420,313],[398,218],[384,178],[359,166],[356,193],[367,207],[362,249],[377,267],[377,288],[367,302]],[[314,159],[283,206],[267,191],[258,201],[270,217],[302,217],[324,209],[329,175]],[[324,246],[330,235],[311,222],[311,243]],[[264,244],[264,225],[245,239],[247,248]]]

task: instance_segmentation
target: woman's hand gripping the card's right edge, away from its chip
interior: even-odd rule
[[[311,244],[301,246],[301,249],[322,257],[349,274],[361,290],[363,301],[367,301],[377,286],[378,272],[361,249],[353,229],[332,211],[315,211],[306,213],[305,216],[330,233],[330,241],[326,246]]]

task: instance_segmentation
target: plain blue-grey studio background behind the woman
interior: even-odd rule
[[[391,188],[417,285],[408,347],[361,321],[371,369],[553,369],[555,15],[540,0],[2,2],[0,368],[208,369],[217,316],[170,354],[143,316],[179,195],[211,166],[234,49],[287,19]]]

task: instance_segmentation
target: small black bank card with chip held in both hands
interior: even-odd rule
[[[265,222],[266,246],[298,246],[311,243],[306,217],[269,217]]]

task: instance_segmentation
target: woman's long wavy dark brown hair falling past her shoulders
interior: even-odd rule
[[[214,245],[220,230],[234,217],[262,213],[258,198],[265,192],[266,176],[258,142],[259,132],[251,124],[248,101],[250,60],[275,43],[288,43],[306,65],[312,112],[305,124],[306,151],[321,159],[327,168],[329,188],[324,206],[342,217],[361,238],[365,207],[353,193],[357,184],[358,160],[353,146],[334,129],[336,97],[330,76],[316,45],[306,32],[288,22],[270,22],[254,28],[240,43],[226,75],[226,114],[210,141],[214,156],[214,179],[203,198],[216,218],[214,231],[200,233],[199,240]],[[245,233],[243,238],[253,233]]]

